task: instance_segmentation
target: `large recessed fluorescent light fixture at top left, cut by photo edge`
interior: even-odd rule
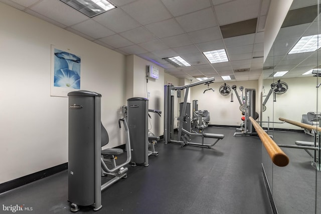
[[[83,13],[87,17],[94,17],[116,8],[107,0],[60,0],[77,11]]]

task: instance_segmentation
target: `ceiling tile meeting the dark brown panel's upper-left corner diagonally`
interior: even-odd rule
[[[186,32],[217,26],[212,8],[180,16],[176,20]]]

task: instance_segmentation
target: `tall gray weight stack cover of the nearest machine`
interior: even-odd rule
[[[68,200],[78,205],[95,202],[95,97],[90,91],[68,93]]]

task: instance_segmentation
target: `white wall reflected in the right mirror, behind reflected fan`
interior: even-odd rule
[[[274,82],[276,81],[274,80]],[[271,94],[266,103],[266,111],[263,112],[264,121],[267,121],[267,116],[269,116],[270,121],[274,122],[282,122],[278,119],[279,117],[301,122],[302,114],[317,110],[315,77],[282,78],[281,81],[288,85],[288,90],[284,94],[276,95],[276,102],[273,102],[273,94]],[[264,80],[265,95],[270,90],[271,83],[273,80]],[[270,128],[273,125],[274,128],[303,130],[288,123],[270,124]],[[262,126],[267,127],[267,123],[263,123]]]

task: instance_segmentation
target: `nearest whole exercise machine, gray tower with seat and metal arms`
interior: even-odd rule
[[[119,179],[127,176],[130,162],[129,129],[124,118],[126,132],[127,159],[116,165],[114,155],[123,153],[119,148],[101,149],[108,143],[108,134],[101,123],[101,94],[91,91],[68,93],[68,200],[71,211],[76,212],[81,206],[93,206],[99,210],[101,191]],[[104,163],[102,155],[111,156],[112,168]],[[112,175],[112,179],[101,185],[102,175]]]

